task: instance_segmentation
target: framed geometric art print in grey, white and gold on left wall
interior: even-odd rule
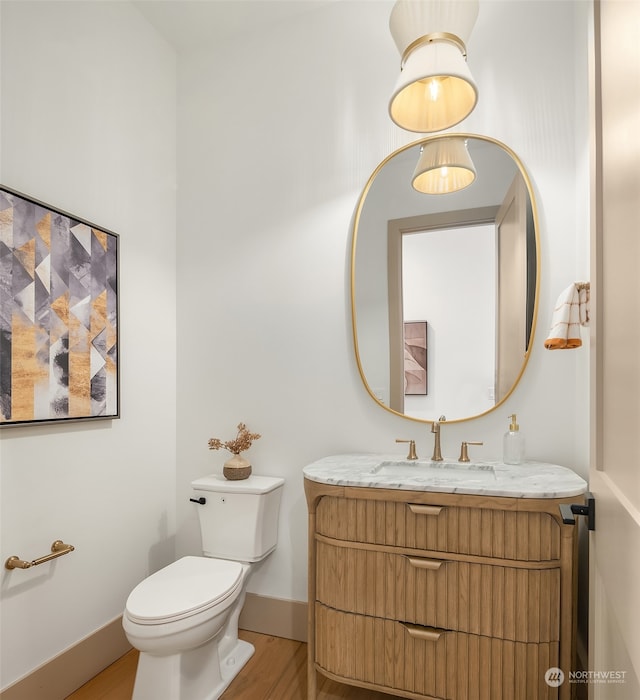
[[[118,418],[118,236],[0,187],[0,427]]]

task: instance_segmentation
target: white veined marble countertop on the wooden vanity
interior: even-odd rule
[[[303,469],[311,481],[408,491],[439,491],[510,498],[579,496],[587,482],[567,467],[526,461],[407,461],[395,454],[342,454],[324,457]]]

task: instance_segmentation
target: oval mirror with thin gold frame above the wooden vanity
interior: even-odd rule
[[[452,137],[475,179],[448,194],[418,192],[423,152]],[[369,394],[427,423],[497,408],[529,359],[539,278],[533,190],[510,148],[449,133],[392,153],[360,197],[351,247],[354,348]]]

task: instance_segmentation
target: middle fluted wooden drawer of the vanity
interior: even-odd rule
[[[346,612],[520,642],[560,638],[560,569],[317,543],[316,598]]]

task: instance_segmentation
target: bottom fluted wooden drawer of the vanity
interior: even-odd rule
[[[448,700],[552,700],[558,643],[533,644],[339,612],[316,604],[316,662],[339,678]]]

